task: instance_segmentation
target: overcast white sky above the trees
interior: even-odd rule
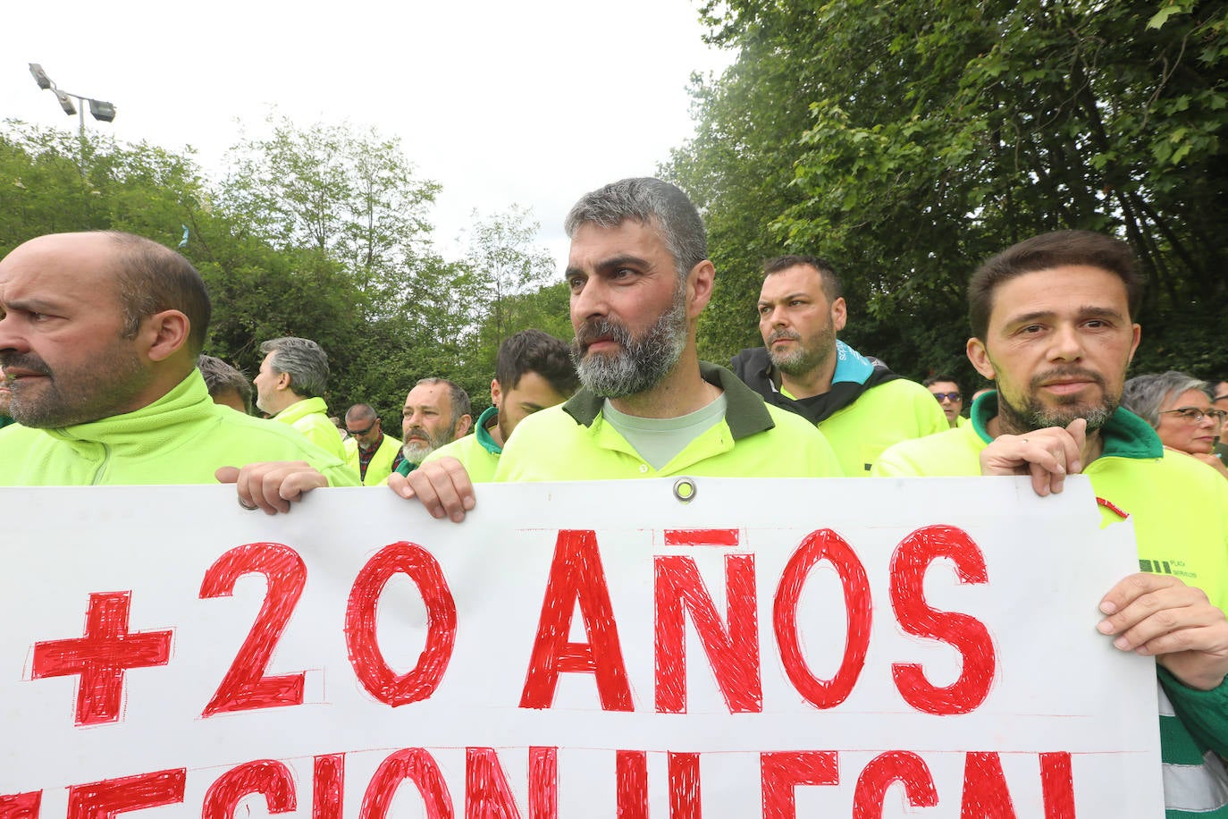
[[[27,69],[111,101],[86,128],[171,150],[206,171],[269,106],[296,124],[349,122],[399,136],[418,174],[443,185],[436,244],[481,214],[527,205],[562,264],[561,222],[586,190],[648,176],[693,131],[693,71],[709,49],[693,0],[499,2],[9,2],[0,118],[72,128]]]

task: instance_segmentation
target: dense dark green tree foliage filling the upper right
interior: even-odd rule
[[[830,258],[849,340],[912,376],[969,376],[963,290],[1060,228],[1131,242],[1151,280],[1136,371],[1228,363],[1228,4],[709,2],[737,47],[696,81],[666,172],[705,209],[705,355],[758,343],[758,263]]]

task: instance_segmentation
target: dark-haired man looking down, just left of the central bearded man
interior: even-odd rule
[[[512,430],[533,413],[567,400],[578,386],[566,344],[542,330],[521,330],[499,345],[491,406],[478,416],[474,432],[425,460],[456,458],[473,483],[492,480]]]

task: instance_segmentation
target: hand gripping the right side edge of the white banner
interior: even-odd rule
[[[1114,586],[1097,625],[1121,651],[1154,656],[1190,688],[1210,691],[1228,674],[1228,619],[1200,588],[1168,575],[1137,573]]]

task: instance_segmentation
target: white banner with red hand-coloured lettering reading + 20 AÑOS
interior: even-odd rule
[[[0,492],[0,818],[1159,817],[1137,571],[1025,480]]]

